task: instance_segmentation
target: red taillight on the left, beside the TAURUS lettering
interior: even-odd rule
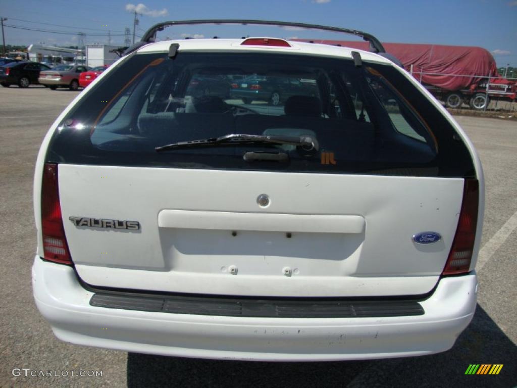
[[[65,237],[59,191],[57,187],[57,165],[45,163],[41,182],[41,232],[43,234],[43,256],[56,263],[72,264]]]

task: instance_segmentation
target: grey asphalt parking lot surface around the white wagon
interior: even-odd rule
[[[34,163],[55,117],[79,94],[33,86],[0,88],[0,387],[514,387],[517,385],[517,124],[458,116],[483,163],[486,208],[475,318],[448,352],[404,359],[253,363],[177,359],[57,340],[31,287],[36,230]],[[468,376],[469,364],[504,364],[497,376]],[[58,376],[14,376],[14,368]],[[59,376],[102,371],[101,377]],[[55,372],[54,372],[55,371]]]

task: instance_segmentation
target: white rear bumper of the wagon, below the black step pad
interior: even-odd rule
[[[256,361],[361,360],[442,352],[472,320],[476,274],[440,280],[425,314],[374,318],[221,317],[90,306],[71,267],[35,258],[36,305],[73,344],[139,353]]]

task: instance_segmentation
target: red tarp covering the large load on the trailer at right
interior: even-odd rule
[[[344,47],[366,51],[369,48],[368,42],[361,41],[293,40],[341,44]],[[450,91],[466,89],[475,86],[483,78],[499,75],[494,57],[481,47],[412,43],[383,43],[383,46],[388,54],[396,56],[402,62],[407,71],[413,65],[413,76],[417,80]],[[421,79],[420,72],[422,72]],[[459,77],[460,75],[467,77]]]

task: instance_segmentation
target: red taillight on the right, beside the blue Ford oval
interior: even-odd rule
[[[467,273],[472,260],[478,224],[479,182],[465,180],[458,228],[442,275]]]

